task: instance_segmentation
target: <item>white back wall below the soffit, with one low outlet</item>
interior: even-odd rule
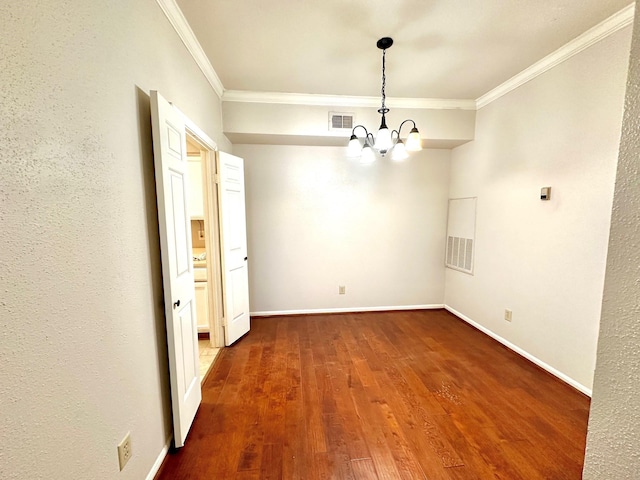
[[[346,147],[233,151],[245,159],[252,312],[442,304],[448,150],[373,165]]]

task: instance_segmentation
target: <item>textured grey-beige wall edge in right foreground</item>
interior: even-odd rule
[[[640,475],[640,10],[636,4],[585,480]]]

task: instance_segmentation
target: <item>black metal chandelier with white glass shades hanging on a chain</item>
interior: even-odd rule
[[[380,128],[374,137],[363,125],[356,125],[351,131],[351,138],[349,139],[348,155],[350,157],[360,157],[362,163],[373,162],[376,159],[375,151],[378,151],[380,155],[384,157],[391,150],[392,160],[404,160],[409,156],[407,152],[422,150],[420,132],[418,132],[416,122],[413,120],[403,121],[398,127],[398,130],[389,131],[389,128],[387,128],[385,115],[389,112],[389,109],[385,106],[386,96],[384,93],[384,88],[387,83],[385,77],[385,55],[387,48],[393,45],[393,39],[389,37],[381,38],[376,45],[382,50],[382,105],[378,109],[378,113],[382,115]],[[409,132],[405,145],[400,138],[400,131],[402,130],[402,126],[407,122],[411,122],[413,128]],[[360,138],[356,135],[358,128],[364,130],[365,136],[363,143],[360,142]]]

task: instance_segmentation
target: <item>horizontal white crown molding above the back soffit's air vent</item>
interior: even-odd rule
[[[318,95],[306,93],[252,92],[225,90],[223,102],[277,103],[286,105],[311,105],[326,107],[379,107],[380,97],[350,95]],[[387,97],[387,104],[394,108],[419,108],[441,110],[475,110],[475,100],[438,98]]]

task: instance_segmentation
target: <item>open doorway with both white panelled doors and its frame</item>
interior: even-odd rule
[[[250,328],[243,160],[218,152],[215,142],[157,91],[150,97],[173,442],[180,448],[202,402],[189,192],[202,187],[202,235],[209,254],[204,281],[211,280],[204,295],[209,313],[203,315],[209,344],[231,345]],[[187,136],[194,162],[200,151],[200,169],[195,169],[200,182],[197,173],[189,182]],[[200,214],[194,216],[197,220]]]

